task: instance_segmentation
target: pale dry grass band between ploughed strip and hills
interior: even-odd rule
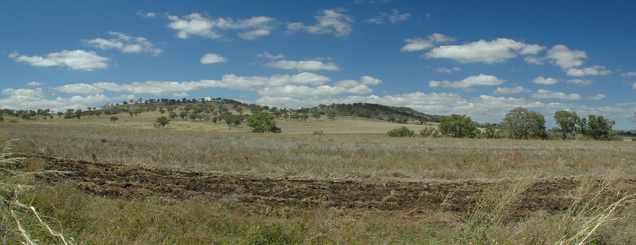
[[[2,124],[22,154],[315,178],[636,176],[635,142],[272,135]]]

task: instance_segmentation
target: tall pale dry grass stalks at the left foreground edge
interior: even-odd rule
[[[34,186],[25,184],[29,179],[34,176],[56,175],[61,173],[60,171],[35,171],[25,172],[18,168],[20,161],[24,160],[23,157],[13,157],[11,149],[13,149],[13,142],[17,140],[10,140],[2,146],[0,150],[0,230],[3,231],[3,240],[15,239],[21,244],[37,244],[38,240],[34,239],[30,234],[29,228],[32,225],[26,226],[23,223],[32,223],[31,218],[34,216],[37,218],[41,227],[45,228],[45,231],[53,237],[59,237],[63,244],[74,244],[73,237],[66,238],[60,232],[56,232],[41,218],[36,208],[31,205],[24,204],[19,201],[19,197],[25,190],[33,189]],[[32,215],[32,216],[31,216]],[[11,220],[13,218],[13,220]]]

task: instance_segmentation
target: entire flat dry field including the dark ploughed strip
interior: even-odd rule
[[[279,122],[288,134],[261,135],[119,117],[0,124],[1,137],[20,139],[24,169],[71,171],[23,196],[81,244],[636,239],[634,142],[389,138],[400,124],[359,119],[337,130]],[[365,126],[388,129],[343,134]]]

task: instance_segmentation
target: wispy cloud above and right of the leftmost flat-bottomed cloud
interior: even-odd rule
[[[160,48],[155,48],[155,44],[153,44],[151,41],[148,41],[148,39],[146,39],[145,37],[128,36],[127,34],[121,32],[107,33],[113,36],[113,38],[96,38],[86,40],[84,41],[84,43],[86,44],[86,46],[91,46],[102,50],[114,48],[120,50],[123,53],[152,53],[153,55],[158,55],[163,51]]]

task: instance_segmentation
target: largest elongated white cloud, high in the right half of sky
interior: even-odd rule
[[[480,40],[473,43],[439,46],[424,56],[426,58],[450,58],[461,63],[499,63],[518,55],[536,55],[544,46],[525,44],[513,39],[497,38],[493,41]]]

